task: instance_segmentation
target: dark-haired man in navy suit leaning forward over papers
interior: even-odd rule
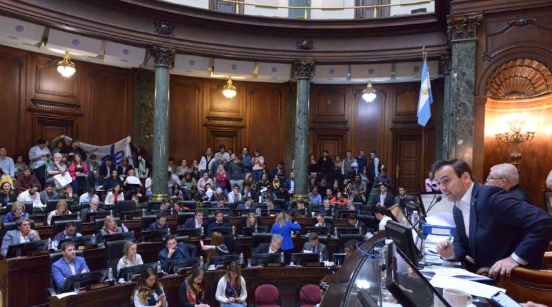
[[[490,267],[489,276],[510,277],[513,268],[541,268],[552,237],[552,217],[502,188],[475,182],[470,166],[458,159],[432,166],[444,197],[454,201],[456,235],[437,252],[446,259],[473,262],[472,271]]]

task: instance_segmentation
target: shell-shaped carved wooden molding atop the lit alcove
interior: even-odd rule
[[[503,64],[489,79],[487,93],[495,99],[522,99],[552,92],[552,74],[542,63],[517,59]]]

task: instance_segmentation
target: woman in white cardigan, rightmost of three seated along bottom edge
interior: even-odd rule
[[[232,262],[228,265],[228,273],[219,279],[215,297],[221,307],[247,306],[246,280],[241,271],[239,264]]]

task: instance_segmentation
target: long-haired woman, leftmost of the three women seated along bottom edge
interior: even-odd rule
[[[157,281],[157,273],[147,268],[141,273],[132,294],[135,307],[168,307],[167,297],[161,283]]]

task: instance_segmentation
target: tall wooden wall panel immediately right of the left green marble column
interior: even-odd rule
[[[203,81],[170,76],[169,152],[175,163],[186,159],[188,165],[199,157],[199,108],[203,103]],[[199,161],[198,161],[199,162]]]

